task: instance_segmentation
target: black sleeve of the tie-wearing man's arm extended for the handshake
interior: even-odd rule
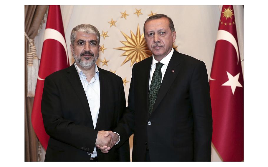
[[[117,132],[120,135],[120,142],[118,143],[119,146],[121,146],[123,142],[127,141],[129,137],[134,133],[134,69],[135,64],[132,69],[132,77],[128,93],[128,107],[126,107],[123,118],[120,119],[117,127],[114,129],[114,132]]]

